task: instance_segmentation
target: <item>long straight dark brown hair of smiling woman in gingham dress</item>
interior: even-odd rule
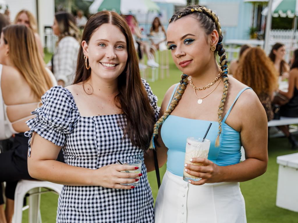
[[[134,41],[128,25],[116,12],[98,12],[86,23],[82,40],[88,44],[92,34],[105,23],[117,26],[125,36],[127,43],[128,58],[125,69],[118,77],[119,93],[115,98],[126,117],[127,124],[123,126],[124,134],[130,138],[133,145],[147,150],[153,132],[154,113],[149,103],[148,94],[142,84]],[[74,84],[85,82],[90,78],[90,75],[91,69],[86,69],[83,48],[81,47],[77,59]]]

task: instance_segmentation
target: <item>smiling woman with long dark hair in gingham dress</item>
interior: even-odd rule
[[[46,92],[27,122],[29,173],[64,185],[57,222],[153,222],[143,154],[159,108],[140,78],[129,27],[115,12],[98,12],[81,46],[74,84]],[[55,161],[61,147],[66,164]],[[142,172],[129,173],[135,167],[118,164],[123,158],[140,159]],[[140,176],[139,186],[122,185]]]

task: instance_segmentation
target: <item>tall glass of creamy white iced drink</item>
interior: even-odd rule
[[[209,147],[210,147],[210,140],[208,139],[204,139],[204,141],[202,142],[202,139],[195,139],[194,137],[188,137],[186,139],[184,164],[202,166],[203,164],[201,163],[192,163],[189,160],[191,158],[208,158]],[[202,179],[199,177],[189,175],[187,172],[184,171],[184,169],[183,169],[183,180],[199,181]]]

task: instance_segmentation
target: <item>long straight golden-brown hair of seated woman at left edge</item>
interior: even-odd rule
[[[24,25],[10,25],[2,29],[9,58],[23,75],[34,94],[41,96],[53,86],[49,73],[35,43],[31,29]]]

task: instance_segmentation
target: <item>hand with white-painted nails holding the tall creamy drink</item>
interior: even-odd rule
[[[202,178],[199,181],[190,180],[193,185],[203,185],[204,183],[220,182],[220,167],[206,158],[193,158],[192,163],[201,163],[202,166],[184,164],[184,171],[188,174]]]

